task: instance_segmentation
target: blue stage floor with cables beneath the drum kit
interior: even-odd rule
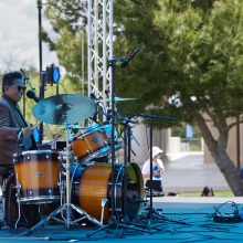
[[[35,231],[19,226],[2,226],[1,242],[241,242],[243,221],[235,218],[235,207],[241,211],[243,198],[152,198],[152,216],[148,216],[146,207],[139,220],[130,223],[115,223],[105,228],[96,225],[50,225],[47,221]],[[215,211],[222,220],[214,222]],[[221,218],[220,218],[221,219]],[[233,221],[233,222],[232,222]],[[240,221],[240,222],[239,222]]]

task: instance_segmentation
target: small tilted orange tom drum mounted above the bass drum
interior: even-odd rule
[[[118,133],[114,128],[115,150],[122,148]],[[112,125],[93,125],[73,139],[72,148],[81,162],[108,156],[112,152]]]

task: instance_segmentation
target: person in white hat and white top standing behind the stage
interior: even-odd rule
[[[150,151],[148,152],[150,156]],[[159,147],[152,147],[152,190],[162,192],[162,176],[165,167],[161,158],[166,158],[163,151]],[[142,178],[145,187],[150,189],[150,158],[142,166]]]

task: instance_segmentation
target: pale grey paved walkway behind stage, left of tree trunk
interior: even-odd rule
[[[214,191],[230,190],[228,182],[215,163],[204,163],[203,152],[168,154],[169,161],[165,162],[165,192],[202,191],[204,186]]]

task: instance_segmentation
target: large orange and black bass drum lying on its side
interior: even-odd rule
[[[140,169],[136,163],[127,166],[125,182],[124,166],[115,165],[114,168],[114,214],[119,219],[126,204],[126,214],[131,220],[142,209],[144,186]],[[97,162],[85,168],[75,168],[73,173],[74,202],[91,216],[108,223],[112,215],[112,165]],[[107,200],[104,209],[103,200]]]

